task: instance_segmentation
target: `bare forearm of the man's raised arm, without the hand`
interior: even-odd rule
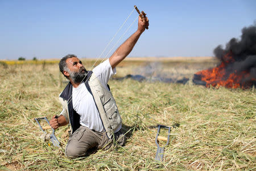
[[[110,65],[112,68],[118,65],[129,53],[133,50],[134,45],[141,36],[141,31],[136,31],[131,35],[117,50],[115,50],[114,54],[109,58]]]

